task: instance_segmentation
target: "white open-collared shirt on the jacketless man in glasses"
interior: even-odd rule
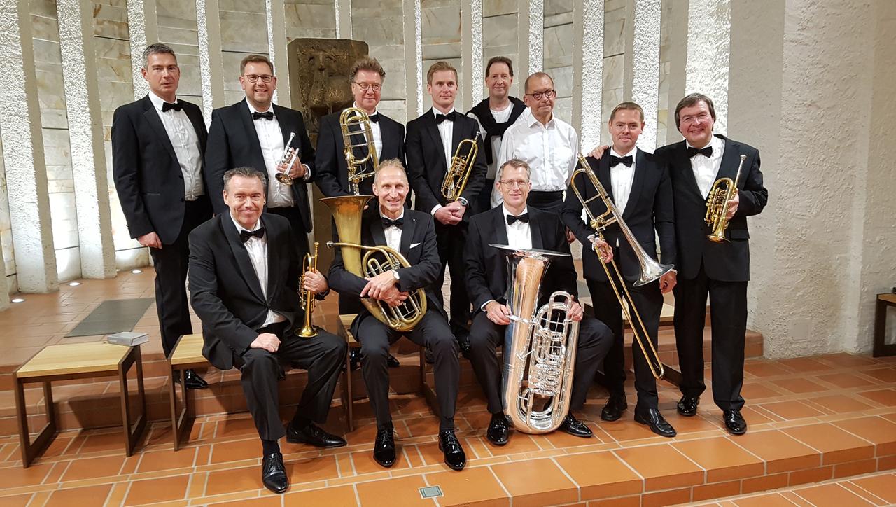
[[[534,192],[563,192],[578,163],[579,134],[563,120],[552,116],[547,125],[529,111],[504,133],[496,160],[500,168],[510,159],[521,159],[529,164]],[[492,206],[503,201],[497,190],[492,191]]]

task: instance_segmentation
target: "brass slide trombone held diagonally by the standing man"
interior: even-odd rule
[[[588,161],[582,157],[582,155],[579,155],[579,164],[582,165],[582,168],[573,171],[573,176],[570,178],[570,188],[573,189],[573,193],[575,193],[579,202],[582,202],[582,208],[584,208],[585,213],[590,220],[590,228],[597,232],[597,236],[601,241],[604,240],[604,231],[607,230],[608,226],[614,223],[619,226],[623,236],[625,236],[625,241],[631,245],[635,256],[638,258],[638,262],[641,264],[641,276],[634,282],[634,286],[640,287],[646,285],[659,279],[659,277],[665,275],[668,271],[671,271],[674,266],[671,264],[660,264],[651,259],[650,256],[644,252],[644,249],[632,234],[632,230],[628,228],[625,221],[622,219],[622,213],[616,210],[616,204],[614,204],[613,200],[607,195],[604,185],[600,184],[598,176],[594,174]],[[580,192],[578,186],[575,184],[575,176],[578,175],[587,177],[591,185],[598,191],[598,194],[589,199],[585,199],[582,196],[582,192]],[[589,203],[595,199],[600,199],[607,207],[607,211],[595,215],[589,207]],[[632,295],[629,294],[628,288],[625,286],[625,279],[622,277],[622,273],[619,272],[616,260],[611,260],[609,264],[613,266],[616,278],[611,276],[610,270],[607,268],[607,262],[600,262],[600,265],[604,268],[604,272],[607,273],[607,280],[610,282],[610,287],[613,288],[613,292],[616,294],[616,299],[619,300],[619,306],[622,307],[625,319],[628,320],[629,325],[632,326],[634,340],[638,343],[638,347],[641,348],[644,358],[647,360],[647,365],[650,366],[650,373],[653,374],[653,377],[656,379],[664,379],[675,385],[680,385],[682,381],[681,373],[671,366],[664,365],[659,359],[657,348],[653,345],[653,341],[650,340],[647,326],[644,325],[644,322],[641,320],[641,314],[638,313],[638,309],[635,308],[632,302]],[[618,280],[618,285],[616,285],[616,280]],[[619,286],[622,286],[622,292],[620,292]],[[626,303],[628,304],[627,307]],[[629,308],[631,308],[631,310],[629,310]],[[634,319],[632,318],[632,314],[634,314]],[[647,343],[646,346],[644,345],[645,342]],[[647,352],[648,349],[650,349],[650,354]]]

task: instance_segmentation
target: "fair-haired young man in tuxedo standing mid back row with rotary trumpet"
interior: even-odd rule
[[[457,95],[457,71],[447,62],[436,62],[426,73],[426,90],[433,98],[433,107],[408,124],[405,152],[408,174],[417,200],[414,208],[435,219],[439,260],[442,270],[438,279],[438,295],[442,296],[445,267],[451,269],[451,326],[461,347],[467,344],[467,322],[470,320],[470,296],[464,289],[463,252],[467,244],[470,216],[478,213],[479,193],[486,181],[485,148],[479,137],[479,125],[469,116],[454,110]],[[478,155],[473,160],[463,193],[447,202],[442,194],[445,173],[461,141],[476,140]],[[467,150],[463,151],[464,153]],[[442,301],[439,297],[437,301]]]

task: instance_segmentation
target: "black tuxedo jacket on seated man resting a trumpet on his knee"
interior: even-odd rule
[[[202,320],[202,356],[220,370],[246,352],[269,309],[286,317],[290,330],[296,322],[301,265],[295,236],[288,219],[263,213],[261,220],[268,242],[267,297],[229,211],[190,233],[190,302]]]

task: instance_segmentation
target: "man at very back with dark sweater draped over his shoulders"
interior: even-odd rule
[[[470,109],[467,116],[479,122],[479,133],[482,135],[486,150],[487,175],[486,184],[479,193],[479,211],[492,207],[492,190],[495,188],[497,172],[497,156],[501,152],[501,138],[504,132],[526,110],[526,104],[516,97],[510,96],[513,85],[513,62],[507,56],[493,56],[486,65],[486,87],[488,99],[482,99]]]

